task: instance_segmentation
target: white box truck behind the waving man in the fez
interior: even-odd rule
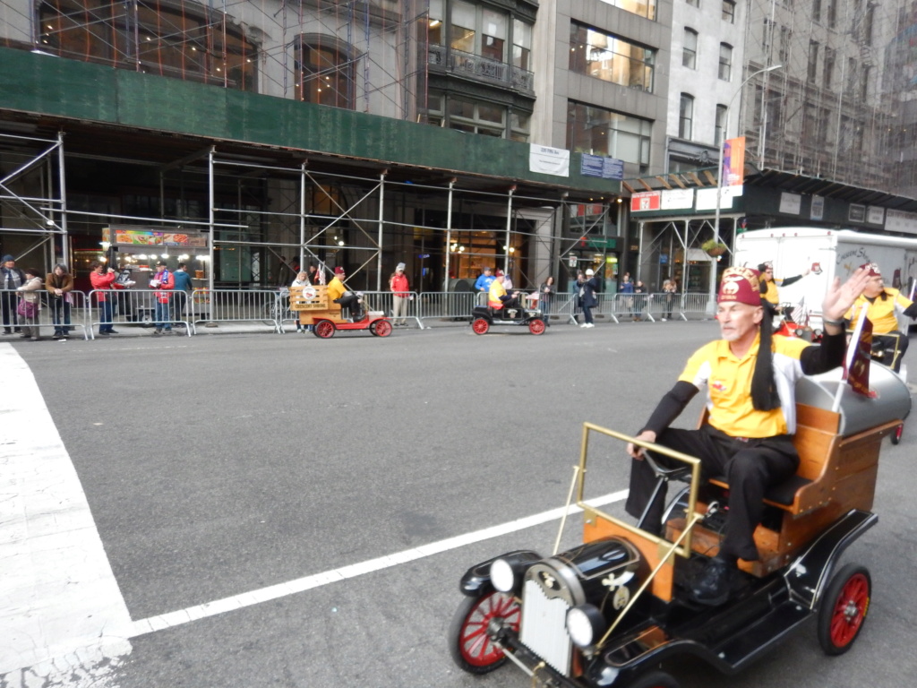
[[[821,327],[822,300],[828,284],[835,276],[843,282],[863,263],[878,264],[886,286],[908,296],[917,278],[917,239],[818,227],[756,229],[738,235],[733,263],[757,268],[762,262],[774,264],[780,302],[803,304],[812,316],[812,327]],[[789,286],[780,286],[780,280],[801,274],[806,268],[811,268],[812,273]]]

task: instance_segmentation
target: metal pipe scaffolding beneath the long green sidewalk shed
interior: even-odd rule
[[[9,246],[18,237],[17,260],[32,254],[38,263],[36,251],[43,247],[40,262],[48,269],[65,261],[85,272],[97,259],[131,267],[131,255],[141,249],[131,254],[122,246],[120,253],[105,254],[116,245],[117,230],[193,234],[204,240],[191,252],[207,268],[210,289],[282,285],[309,262],[327,270],[346,266],[350,280],[377,291],[386,288],[398,262],[411,266],[420,282],[414,287],[424,291],[453,291],[460,282],[467,287],[485,266],[534,288],[548,273],[575,274],[571,254],[603,263],[605,251],[579,244],[604,236],[617,207],[592,204],[591,216],[577,223],[579,204],[520,193],[514,185],[492,191],[455,178],[413,182],[391,179],[387,171],[372,177],[250,152],[212,146],[155,166],[158,207],[130,215],[68,206],[66,170],[80,156],[68,157],[63,135],[0,134],[0,239]],[[156,191],[150,186],[150,194]],[[22,237],[34,240],[26,245]],[[73,260],[71,239],[83,247],[80,261]]]

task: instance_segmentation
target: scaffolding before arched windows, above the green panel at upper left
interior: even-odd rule
[[[0,45],[416,120],[428,0],[0,0]]]

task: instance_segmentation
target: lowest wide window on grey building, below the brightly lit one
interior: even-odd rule
[[[612,110],[570,101],[567,105],[567,148],[580,153],[649,166],[653,123]]]

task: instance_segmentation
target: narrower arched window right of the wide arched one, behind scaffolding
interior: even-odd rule
[[[346,110],[354,106],[354,65],[350,50],[327,37],[299,37],[295,50],[296,99]]]

